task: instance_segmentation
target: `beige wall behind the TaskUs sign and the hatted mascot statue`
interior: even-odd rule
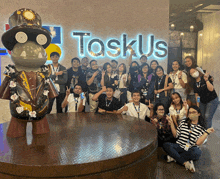
[[[127,34],[128,43],[137,39],[138,34],[142,34],[144,53],[147,53],[147,37],[150,34],[155,36],[155,41],[162,40],[168,44],[169,0],[1,0],[0,35],[5,32],[5,24],[8,23],[10,15],[20,8],[36,11],[41,16],[43,25],[62,28],[60,63],[67,68],[71,66],[71,59],[79,56],[78,39],[72,37],[73,31],[90,32],[91,38],[100,38],[104,43],[109,38],[121,41],[122,34]],[[88,43],[88,40],[85,43]],[[4,48],[1,42],[0,48]],[[134,60],[139,61],[140,54],[137,55]],[[94,59],[88,54],[85,56],[90,60]],[[126,58],[119,57],[117,60],[119,63],[127,63],[128,56],[129,53]],[[153,59],[155,56],[150,56],[149,62]],[[98,59],[98,63],[102,65],[109,60],[105,55]],[[166,71],[167,56],[157,60]],[[4,67],[11,63],[13,62],[9,55],[1,56],[1,74]],[[8,106],[8,103],[4,106]]]

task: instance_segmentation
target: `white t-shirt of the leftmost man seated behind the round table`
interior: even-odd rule
[[[79,104],[81,103],[81,97],[74,97],[74,94],[71,93],[68,98],[68,112],[78,112]],[[83,99],[83,106],[86,104],[86,98]],[[77,105],[77,107],[76,107]],[[77,108],[77,110],[75,110]]]

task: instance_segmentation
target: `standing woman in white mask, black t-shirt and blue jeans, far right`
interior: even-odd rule
[[[190,76],[194,78],[193,89],[197,98],[197,105],[205,117],[207,128],[212,126],[212,118],[218,107],[218,96],[215,92],[213,81],[209,73],[202,75],[194,68],[190,70]]]

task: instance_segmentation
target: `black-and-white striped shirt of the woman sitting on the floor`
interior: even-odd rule
[[[180,147],[185,148],[186,143],[189,141],[190,147],[193,147],[204,132],[205,129],[200,124],[191,124],[189,128],[186,119],[184,119],[177,128],[176,138],[178,138],[178,140],[176,143],[179,144]]]

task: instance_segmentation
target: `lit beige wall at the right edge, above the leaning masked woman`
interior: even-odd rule
[[[203,30],[198,33],[198,66],[214,77],[214,87],[220,94],[220,12],[202,14]]]

